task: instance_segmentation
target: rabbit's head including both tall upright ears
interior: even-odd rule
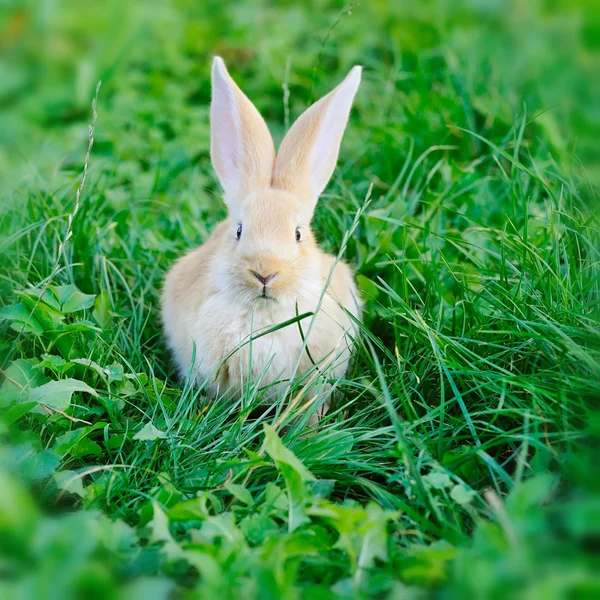
[[[211,157],[229,212],[214,284],[237,301],[268,306],[319,293],[310,221],[335,168],[360,75],[354,67],[306,110],[276,156],[263,118],[214,59]]]

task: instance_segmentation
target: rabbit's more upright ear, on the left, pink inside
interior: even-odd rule
[[[273,138],[218,56],[212,66],[210,138],[212,163],[230,209],[250,192],[271,185]]]

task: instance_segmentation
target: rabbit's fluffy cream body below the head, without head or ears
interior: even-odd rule
[[[298,322],[253,339],[251,344],[244,343],[250,340],[251,333],[256,337],[261,331],[296,318],[296,304],[260,300],[240,307],[219,286],[206,285],[218,259],[219,238],[225,235],[228,225],[228,221],[221,223],[203,246],[181,258],[165,282],[163,320],[181,375],[189,373],[195,345],[195,376],[199,381],[210,382],[208,389],[213,395],[229,388],[241,390],[249,381],[259,379],[265,387],[276,382],[285,384],[294,374],[308,371],[311,358],[315,363],[332,359],[330,376],[343,376],[350,359],[351,340],[346,334],[353,330],[353,323],[342,307],[356,319],[360,317],[358,291],[348,266],[341,261],[335,264],[317,311],[335,260],[325,253],[316,255],[318,275],[306,278],[306,292],[297,299],[298,315],[316,314],[312,325],[311,318],[300,321],[303,335],[310,327],[308,352],[303,351]]]

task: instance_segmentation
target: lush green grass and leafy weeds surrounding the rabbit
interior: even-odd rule
[[[0,595],[597,594],[592,6],[38,4],[1,21]],[[162,338],[224,216],[214,53],[277,140],[365,66],[313,223],[364,324],[312,430],[325,388],[206,402]]]

